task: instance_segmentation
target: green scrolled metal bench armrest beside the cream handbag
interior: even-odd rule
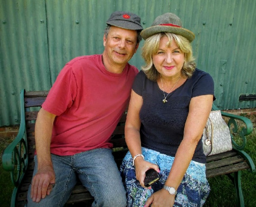
[[[220,110],[214,104],[213,104],[212,109]],[[223,117],[230,118],[228,120],[228,128],[230,129],[230,135],[231,135],[231,139],[232,139],[233,148],[238,149],[238,150],[243,150],[246,145],[246,137],[245,136],[252,133],[252,130],[253,130],[253,125],[252,125],[251,120],[248,119],[247,117],[230,114],[230,113],[226,113],[223,111],[221,111],[221,115]],[[245,126],[240,126],[240,124],[239,124],[240,127],[238,127],[237,120],[243,122],[243,125],[245,125]],[[239,141],[239,143],[237,143],[235,141],[233,135],[236,135],[236,136],[239,135],[242,140],[241,143],[240,143],[240,141]]]

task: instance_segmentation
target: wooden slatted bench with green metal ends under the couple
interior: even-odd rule
[[[19,133],[13,142],[6,148],[2,157],[2,164],[5,170],[10,171],[11,179],[14,184],[11,206],[24,207],[27,203],[27,191],[32,180],[34,169],[34,129],[35,120],[41,104],[44,102],[48,91],[31,91],[21,90],[21,124]],[[218,110],[213,105],[213,110]],[[233,134],[240,134],[239,145],[233,139],[232,151],[207,156],[206,175],[214,177],[217,175],[228,175],[232,179],[237,199],[237,207],[244,206],[243,193],[241,189],[241,170],[247,169],[255,171],[254,163],[246,152],[243,151],[246,143],[245,135],[252,132],[252,123],[249,119],[237,115],[222,112],[224,117],[229,118],[228,125]],[[236,120],[242,121],[245,126],[238,127]],[[122,116],[111,141],[114,145],[113,155],[120,166],[122,159],[128,151],[124,140],[124,124],[126,113]],[[242,140],[242,141],[241,141]],[[221,186],[220,186],[221,188]],[[93,201],[92,196],[81,183],[77,183],[72,190],[66,206],[76,203],[83,203],[83,206],[90,206]]]

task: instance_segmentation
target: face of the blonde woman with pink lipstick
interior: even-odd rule
[[[152,55],[152,59],[156,70],[162,77],[173,79],[181,75],[184,53],[179,49],[174,39],[171,47],[167,47],[168,41],[166,36],[160,39],[159,49],[155,55]]]

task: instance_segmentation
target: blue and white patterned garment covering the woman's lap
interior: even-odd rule
[[[152,184],[151,189],[143,188],[136,180],[132,156],[128,152],[120,167],[127,191],[128,207],[143,207],[154,192],[163,188],[174,160],[174,157],[144,147],[142,147],[142,154],[145,160],[159,166],[161,178]],[[210,187],[205,176],[205,164],[192,160],[177,189],[174,206],[201,207],[209,192]]]

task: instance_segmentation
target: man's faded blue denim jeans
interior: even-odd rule
[[[63,206],[70,197],[77,180],[76,175],[94,197],[93,207],[126,206],[126,191],[111,149],[94,149],[71,156],[51,154],[55,171],[55,186],[49,196],[39,203],[30,198],[28,189],[28,207]],[[34,157],[37,172],[37,156]]]

